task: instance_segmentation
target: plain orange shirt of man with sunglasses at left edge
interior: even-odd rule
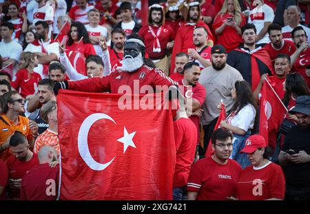
[[[17,125],[14,125],[14,122],[10,120],[5,114],[1,115],[1,117],[6,122],[0,120],[0,145],[5,143],[8,137],[10,137],[14,131],[20,131],[23,133],[28,141],[33,139],[28,118],[19,116],[19,122],[17,122]],[[6,161],[10,157],[10,153],[10,149],[6,149],[6,151],[0,152],[0,159]]]

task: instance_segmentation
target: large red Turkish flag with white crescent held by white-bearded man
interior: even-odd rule
[[[134,109],[120,109],[124,98],[136,98]],[[61,199],[172,200],[172,111],[138,109],[147,98],[153,95],[66,90],[57,96]]]

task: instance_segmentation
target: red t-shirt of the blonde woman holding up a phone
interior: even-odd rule
[[[246,21],[245,16],[242,13],[240,13],[240,15],[241,22],[239,27],[242,28],[242,26],[245,25]],[[214,23],[212,25],[213,29],[216,30],[217,28],[220,28],[220,26],[223,25],[225,19],[229,17],[233,18],[233,16],[228,12],[223,14],[223,17],[221,14],[218,14],[214,19]],[[240,34],[237,34],[236,29],[230,26],[226,26],[223,32],[218,35],[218,40],[216,43],[223,45],[226,48],[227,52],[231,52],[231,50],[236,49],[242,42],[242,36]]]

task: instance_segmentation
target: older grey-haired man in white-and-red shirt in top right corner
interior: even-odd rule
[[[293,37],[291,36],[291,32],[298,26],[304,28],[304,32],[306,32],[307,35],[310,35],[310,29],[300,24],[300,8],[298,8],[298,6],[289,6],[287,8],[287,22],[289,24],[282,28],[284,39],[292,41]],[[310,41],[310,38],[307,38],[307,40]]]

